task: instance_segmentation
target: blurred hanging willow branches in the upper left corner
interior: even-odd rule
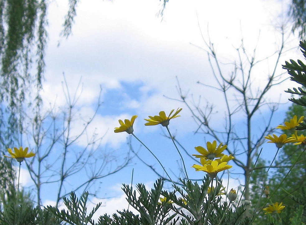
[[[71,33],[77,2],[68,1],[61,33],[66,38]],[[34,112],[40,107],[47,9],[47,0],[0,0],[0,147],[18,140],[28,106]]]

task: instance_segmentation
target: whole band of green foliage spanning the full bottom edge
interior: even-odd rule
[[[210,183],[208,177],[203,180],[203,184],[197,182],[182,181],[182,186],[174,185],[174,191],[162,190],[163,181],[158,179],[154,188],[148,191],[144,184],[138,184],[137,192],[128,185],[123,185],[123,190],[127,195],[127,201],[136,209],[139,214],[135,215],[129,210],[117,211],[112,216],[104,214],[100,216],[98,222],[92,219],[101,203],[97,204],[92,211],[87,212],[88,193],[82,194],[80,199],[71,192],[70,199],[64,198],[64,205],[68,210],[48,206],[45,209],[33,208],[33,204],[22,198],[16,201],[14,196],[8,198],[0,213],[0,225],[202,225],[202,224],[227,224],[227,225],[250,225],[263,224],[262,217],[259,223],[252,223],[252,218],[246,216],[245,205],[233,207],[232,202],[221,202],[218,195],[221,183],[207,193]],[[177,195],[179,194],[178,197]],[[166,201],[159,201],[161,196],[167,198]],[[275,218],[276,214],[265,215],[265,224],[303,224],[305,221],[304,207],[306,197],[296,196],[299,199],[299,207],[286,207],[280,214],[281,218]],[[182,199],[185,199],[183,201]],[[17,203],[16,203],[17,202]]]

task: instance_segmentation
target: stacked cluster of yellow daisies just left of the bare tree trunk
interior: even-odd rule
[[[217,173],[225,169],[230,169],[233,166],[228,165],[228,161],[234,159],[233,155],[224,155],[222,152],[226,149],[227,145],[222,143],[217,146],[217,141],[207,142],[207,149],[202,146],[195,147],[201,155],[194,155],[200,158],[201,165],[194,164],[192,167],[196,171],[204,171],[208,173],[210,178],[215,178]],[[218,159],[214,159],[218,158]]]

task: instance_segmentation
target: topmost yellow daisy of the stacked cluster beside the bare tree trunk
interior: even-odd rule
[[[226,149],[227,145],[222,145],[222,142],[217,147],[217,142],[213,141],[213,143],[206,143],[207,150],[202,146],[195,147],[195,150],[198,151],[201,155],[194,155],[196,158],[205,158],[209,160],[213,160],[214,158],[222,157],[224,154],[222,153],[224,149]]]

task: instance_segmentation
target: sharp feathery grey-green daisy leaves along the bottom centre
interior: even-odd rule
[[[59,212],[51,206],[48,206],[48,210],[60,221],[76,225],[87,223],[92,225],[251,224],[251,219],[244,214],[243,205],[233,210],[228,202],[221,204],[221,197],[217,196],[221,187],[220,183],[210,194],[207,194],[210,183],[208,177],[201,186],[189,180],[182,183],[181,187],[174,185],[175,190],[170,192],[162,190],[162,179],[158,179],[150,191],[141,183],[136,185],[137,191],[124,184],[122,189],[127,196],[126,199],[130,206],[139,212],[138,215],[129,210],[117,211],[118,214],[112,216],[107,214],[100,216],[98,223],[94,223],[91,219],[92,215],[101,204],[98,204],[86,217],[87,193],[83,194],[80,200],[71,193],[70,200],[64,200],[68,211]],[[181,197],[177,197],[177,194]],[[160,201],[161,196],[166,197],[166,201]],[[185,201],[182,201],[182,198]]]

